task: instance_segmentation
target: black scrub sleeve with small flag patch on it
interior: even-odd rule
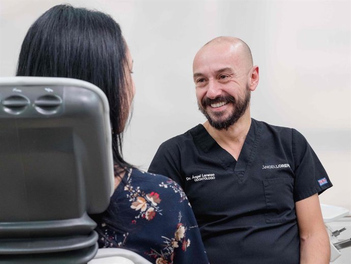
[[[295,202],[321,194],[332,187],[326,170],[317,155],[299,131],[293,129],[293,155],[295,160]]]

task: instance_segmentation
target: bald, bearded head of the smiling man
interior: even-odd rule
[[[206,43],[195,55],[193,74],[199,110],[211,126],[228,129],[249,114],[251,91],[259,77],[244,41],[218,37]]]

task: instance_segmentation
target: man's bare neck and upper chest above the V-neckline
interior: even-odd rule
[[[228,151],[236,160],[238,160],[250,125],[250,111],[246,111],[246,113],[235,124],[229,126],[227,130],[217,130],[210,125],[209,121],[203,124],[204,128],[206,128],[218,145]]]

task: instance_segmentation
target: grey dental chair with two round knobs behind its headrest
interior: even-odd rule
[[[98,252],[96,223],[113,193],[109,107],[69,78],[0,78],[0,263],[150,263]]]

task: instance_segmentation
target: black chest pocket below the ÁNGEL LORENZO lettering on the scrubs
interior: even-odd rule
[[[266,223],[286,223],[295,220],[294,179],[265,179],[263,185],[267,207]]]

